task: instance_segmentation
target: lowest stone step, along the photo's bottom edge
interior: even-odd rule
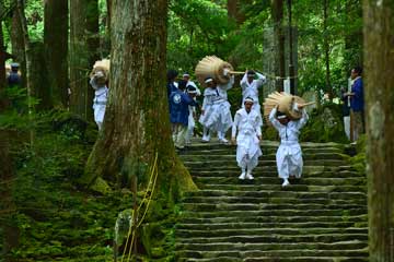
[[[260,258],[231,258],[220,257],[211,259],[189,259],[189,258],[177,258],[177,262],[368,262],[368,258],[363,257],[291,257],[291,258],[273,258],[273,257],[260,257]]]

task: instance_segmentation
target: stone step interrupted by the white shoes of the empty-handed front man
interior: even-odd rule
[[[259,171],[258,168],[254,170],[254,172],[258,172],[260,177],[278,177],[278,171],[273,170]],[[241,169],[234,168],[233,170],[196,170],[192,172],[193,177],[237,177],[240,176]],[[310,171],[309,168],[303,169],[302,177],[315,177],[315,178],[366,178],[364,174],[350,171],[350,170],[343,170],[343,171]]]

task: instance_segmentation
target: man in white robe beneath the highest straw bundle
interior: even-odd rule
[[[205,80],[207,88],[204,91],[204,102],[199,122],[204,127],[202,142],[210,141],[210,132],[218,133],[218,140],[221,143],[229,143],[225,139],[225,132],[232,127],[232,116],[230,103],[228,102],[228,90],[234,84],[234,76],[231,76],[229,83],[217,85],[212,78]]]

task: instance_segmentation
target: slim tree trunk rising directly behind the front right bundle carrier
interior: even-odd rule
[[[285,33],[283,33],[283,0],[271,1],[275,38],[275,74],[285,78]],[[276,81],[277,91],[283,91],[283,80]]]

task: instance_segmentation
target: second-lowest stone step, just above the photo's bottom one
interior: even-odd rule
[[[352,240],[333,243],[322,242],[212,242],[212,243],[177,243],[175,249],[196,250],[196,251],[225,251],[225,250],[359,250],[368,247],[367,241]]]

